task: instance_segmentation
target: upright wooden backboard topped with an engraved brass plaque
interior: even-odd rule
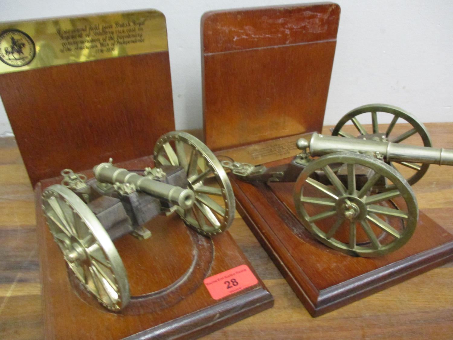
[[[138,24],[140,18],[145,24]],[[98,22],[110,27],[109,20],[112,27],[106,31],[100,26],[98,31],[112,32],[116,42],[112,52],[106,57],[99,52],[100,44],[82,49],[92,46],[87,43],[74,55],[76,39],[83,36],[72,38],[70,30],[89,30]],[[117,23],[130,26],[121,28]],[[63,30],[64,25],[69,28]],[[0,28],[4,27],[27,31],[36,45],[36,56],[24,66],[26,70],[5,68],[2,63],[6,71],[0,72],[0,96],[33,186],[65,168],[80,171],[109,157],[120,162],[151,155],[159,136],[174,130],[165,17],[159,11],[10,23]],[[130,38],[134,28],[135,34],[144,34],[143,41]],[[89,39],[104,36],[92,32]],[[111,41],[108,34],[105,37]],[[50,44],[55,39],[63,41],[57,41],[58,48],[57,43]],[[61,52],[59,47],[68,42],[74,43],[72,52]],[[128,54],[134,44],[141,49]]]

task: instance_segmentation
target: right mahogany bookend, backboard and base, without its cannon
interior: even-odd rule
[[[203,16],[205,141],[219,158],[289,162],[300,152],[297,138],[321,132],[339,13],[338,5],[321,3]],[[294,183],[230,178],[236,208],[312,316],[453,258],[453,236],[423,212],[409,243],[394,253],[347,256],[304,229],[294,213]]]

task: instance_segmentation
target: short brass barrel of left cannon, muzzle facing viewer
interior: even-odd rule
[[[101,163],[93,168],[96,180],[103,183],[129,183],[138,191],[150,194],[159,199],[164,199],[183,209],[191,208],[195,194],[190,189],[162,183],[149,177],[144,177],[126,169],[117,168],[110,163]]]

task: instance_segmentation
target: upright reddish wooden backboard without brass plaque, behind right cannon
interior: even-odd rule
[[[203,15],[207,146],[221,150],[320,131],[339,15],[332,3]]]

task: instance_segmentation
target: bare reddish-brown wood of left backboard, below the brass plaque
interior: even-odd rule
[[[32,185],[150,155],[174,130],[168,51],[2,74],[0,96]]]

